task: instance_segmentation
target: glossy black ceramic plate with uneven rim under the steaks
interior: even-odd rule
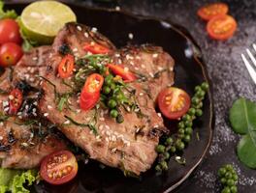
[[[16,9],[18,13],[26,4],[9,4],[7,7]],[[70,5],[77,14],[78,21],[97,27],[117,46],[127,43],[153,43],[162,46],[176,61],[175,86],[193,95],[193,89],[203,81],[208,81],[208,73],[202,60],[200,48],[188,32],[172,22],[153,18],[133,16],[122,12],[95,10]],[[134,39],[129,40],[128,34],[133,33]],[[169,123],[167,123],[169,125]],[[200,164],[208,151],[212,136],[212,100],[211,93],[204,102],[204,116],[194,124],[193,139],[185,149],[183,157],[185,166],[179,165],[174,159],[169,163],[169,171],[156,176],[154,170],[146,172],[141,179],[127,179],[116,169],[101,169],[99,163],[90,161],[80,164],[79,176],[63,186],[49,186],[45,183],[36,185],[35,192],[112,192],[112,193],[159,193],[170,192],[183,180],[187,179]],[[196,137],[198,136],[198,137]]]

